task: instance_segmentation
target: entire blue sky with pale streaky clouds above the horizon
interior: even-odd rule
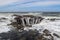
[[[60,0],[0,0],[0,12],[60,12]]]

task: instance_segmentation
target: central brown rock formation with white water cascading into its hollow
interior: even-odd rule
[[[32,27],[33,24],[40,23],[44,18],[34,15],[13,15],[15,16],[15,22],[11,25],[17,27],[18,29],[23,29],[24,27]]]

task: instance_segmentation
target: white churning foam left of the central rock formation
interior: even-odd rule
[[[12,26],[8,26],[8,24],[11,23],[10,20],[12,20],[13,18],[11,15],[1,15],[0,18],[2,18],[2,17],[7,18],[7,19],[6,20],[4,20],[4,19],[0,20],[0,33],[8,32],[11,30],[11,27],[12,27]]]

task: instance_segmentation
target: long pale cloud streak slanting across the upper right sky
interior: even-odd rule
[[[33,7],[33,6],[51,6],[51,5],[60,5],[60,1],[39,1],[32,2],[27,4],[21,4],[21,7]]]

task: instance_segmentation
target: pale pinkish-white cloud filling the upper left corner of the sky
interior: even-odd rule
[[[12,5],[12,4],[16,4],[16,3],[25,3],[25,2],[31,2],[31,1],[38,1],[38,0],[0,0],[0,6],[4,6],[4,5]]]

